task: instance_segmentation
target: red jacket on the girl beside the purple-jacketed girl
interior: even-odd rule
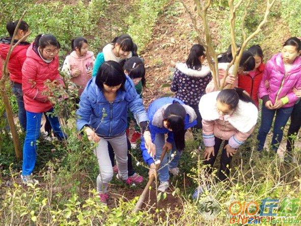
[[[261,63],[255,71],[254,78],[252,78],[250,74],[238,75],[238,87],[247,91],[250,94],[257,108],[259,105],[258,88],[262,79],[263,70],[264,63]]]

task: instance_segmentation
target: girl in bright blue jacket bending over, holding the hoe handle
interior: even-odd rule
[[[165,156],[158,170],[160,185],[158,190],[165,192],[169,187],[169,171],[179,173],[178,162],[185,148],[184,135],[188,128],[197,124],[195,110],[177,98],[163,97],[156,99],[148,109],[151,138],[156,146],[155,158],[159,159],[164,148],[172,150]],[[165,135],[167,139],[165,140]],[[154,173],[155,160],[147,153],[145,141],[141,140],[143,158],[150,166],[149,177]],[[174,157],[172,157],[174,156]],[[170,160],[170,161],[169,161]],[[169,163],[168,163],[169,162]]]

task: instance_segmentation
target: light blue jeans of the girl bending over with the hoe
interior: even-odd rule
[[[165,134],[156,134],[154,144],[156,145],[156,159],[160,159],[163,152],[163,146],[165,144]],[[169,181],[169,170],[168,168],[175,168],[178,166],[182,151],[176,149],[175,142],[172,143],[173,148],[171,152],[165,155],[163,161],[161,162],[160,168],[158,170],[159,181]],[[175,154],[172,158],[171,155]],[[170,162],[169,162],[170,161]],[[169,162],[169,163],[168,163]]]

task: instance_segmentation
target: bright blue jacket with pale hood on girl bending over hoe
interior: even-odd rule
[[[148,118],[150,120],[149,122],[149,129],[151,133],[152,141],[155,140],[156,134],[167,134],[168,138],[167,141],[169,143],[174,142],[174,136],[173,132],[169,131],[165,127],[163,127],[163,112],[164,110],[171,105],[174,102],[179,102],[186,110],[186,117],[185,117],[185,130],[187,130],[190,127],[193,127],[197,124],[197,115],[193,108],[185,105],[182,101],[180,101],[177,98],[172,97],[162,97],[159,99],[156,99],[148,108],[147,114]],[[141,139],[141,150],[142,150],[142,156],[144,161],[150,165],[154,162],[153,158],[150,157],[150,155],[147,153],[147,149],[145,147],[145,140],[142,137]]]

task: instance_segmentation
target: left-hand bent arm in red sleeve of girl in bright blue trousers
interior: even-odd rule
[[[30,61],[25,61],[22,66],[22,76],[22,91],[24,95],[39,102],[47,102],[47,95],[42,94],[42,92],[47,92],[47,89],[41,91],[36,87],[37,66],[31,64]]]

